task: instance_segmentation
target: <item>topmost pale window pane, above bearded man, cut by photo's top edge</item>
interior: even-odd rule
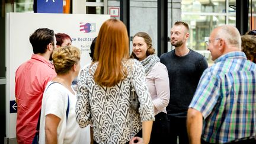
[[[182,12],[226,12],[225,0],[183,0]]]

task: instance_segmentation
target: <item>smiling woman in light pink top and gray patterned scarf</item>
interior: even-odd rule
[[[133,36],[133,52],[131,57],[139,60],[146,73],[146,82],[155,109],[151,140],[149,143],[166,143],[168,141],[167,111],[169,103],[169,78],[167,68],[160,63],[152,47],[151,37],[144,32]]]

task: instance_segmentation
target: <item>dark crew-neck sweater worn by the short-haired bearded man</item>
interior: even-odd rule
[[[208,68],[206,58],[190,49],[185,56],[175,55],[175,50],[160,56],[160,62],[167,66],[170,99],[168,115],[186,117],[188,105],[196,91],[203,71]]]

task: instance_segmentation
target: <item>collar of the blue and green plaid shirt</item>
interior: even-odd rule
[[[217,58],[215,63],[224,61],[226,59],[247,59],[247,57],[244,52],[229,52]]]

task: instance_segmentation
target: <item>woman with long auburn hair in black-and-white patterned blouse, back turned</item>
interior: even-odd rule
[[[109,19],[101,26],[94,60],[80,73],[76,121],[80,127],[92,123],[94,143],[129,143],[140,129],[149,143],[153,104],[141,63],[129,59],[127,29],[120,20]],[[130,107],[132,85],[138,111]]]

